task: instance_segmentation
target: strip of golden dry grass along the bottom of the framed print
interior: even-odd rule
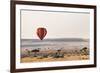
[[[72,60],[88,60],[89,55],[75,55],[75,56],[68,56],[65,55],[64,58],[41,58],[41,57],[24,57],[21,58],[21,63],[29,63],[29,62],[50,62],[50,61],[72,61]]]

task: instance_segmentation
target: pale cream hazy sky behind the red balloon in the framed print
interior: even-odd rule
[[[21,38],[38,39],[36,30],[45,27],[45,38],[89,38],[89,14],[73,12],[21,11]]]

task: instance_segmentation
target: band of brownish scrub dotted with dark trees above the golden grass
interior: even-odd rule
[[[83,47],[80,50],[71,50],[71,51],[64,51],[63,48],[52,51],[52,52],[41,52],[41,48],[33,49],[33,50],[25,50],[26,53],[21,54],[21,58],[24,57],[40,57],[42,58],[47,58],[47,57],[53,57],[53,58],[64,58],[65,55],[67,56],[81,56],[81,55],[89,55],[89,48]]]

